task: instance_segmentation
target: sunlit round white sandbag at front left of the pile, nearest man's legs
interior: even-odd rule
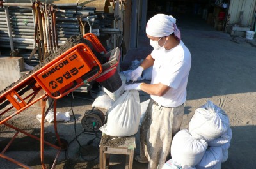
[[[203,158],[207,146],[205,140],[196,140],[188,129],[182,129],[173,137],[171,156],[181,165],[194,167]]]

